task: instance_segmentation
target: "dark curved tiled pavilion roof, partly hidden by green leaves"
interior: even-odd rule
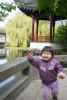
[[[32,17],[32,15],[34,15],[34,18],[36,18],[36,19],[49,20],[49,17],[47,17],[43,11],[39,13],[38,10],[34,10],[34,8],[35,8],[34,2],[36,0],[14,0],[14,1],[15,1],[16,4],[21,3],[21,6],[18,6],[18,7],[27,16]],[[56,21],[56,20],[67,19],[67,17],[54,15],[53,19]]]

